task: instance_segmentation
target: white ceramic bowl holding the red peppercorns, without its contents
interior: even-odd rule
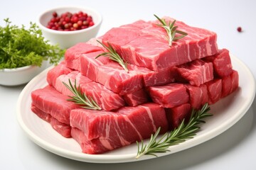
[[[92,16],[92,20],[95,25],[82,30],[73,31],[61,31],[61,30],[51,30],[46,28],[48,21],[52,18],[52,13],[55,11],[58,15],[70,12],[77,13],[78,11],[86,12],[89,16]],[[42,13],[38,18],[38,26],[41,28],[43,36],[46,40],[49,40],[53,44],[59,44],[62,48],[72,47],[78,42],[87,42],[91,38],[95,38],[102,23],[102,16],[99,12],[92,8],[78,7],[78,6],[66,6],[59,8],[51,8],[50,10]]]

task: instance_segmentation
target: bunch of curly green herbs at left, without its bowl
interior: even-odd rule
[[[6,26],[0,26],[0,69],[11,69],[27,65],[41,66],[43,60],[57,64],[65,50],[58,45],[50,45],[36,23],[25,26],[11,25],[9,18],[4,19]]]

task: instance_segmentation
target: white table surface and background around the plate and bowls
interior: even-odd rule
[[[138,19],[154,20],[154,13],[213,30],[219,47],[228,48],[256,77],[256,1],[9,0],[1,2],[0,24],[10,18],[17,25],[28,25],[36,22],[42,11],[68,5],[97,8],[104,18],[99,35]],[[238,26],[242,33],[238,33]],[[232,128],[191,149],[142,162],[92,164],[59,157],[28,139],[16,119],[16,102],[24,86],[0,86],[0,169],[256,169],[255,101]]]

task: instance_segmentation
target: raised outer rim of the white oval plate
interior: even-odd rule
[[[206,142],[221,133],[225,132],[228,130],[230,127],[232,127],[235,123],[242,118],[245,113],[247,113],[248,109],[252,105],[252,102],[254,101],[255,98],[255,77],[253,76],[252,72],[250,69],[246,66],[245,63],[243,63],[241,60],[238,59],[238,57],[235,57],[234,55],[230,54],[230,58],[232,62],[237,63],[240,67],[242,67],[242,72],[246,72],[248,78],[250,78],[251,83],[252,83],[252,94],[249,97],[250,100],[247,101],[245,105],[243,105],[242,108],[240,108],[240,111],[238,111],[239,116],[235,116],[235,119],[225,121],[225,125],[221,127],[214,128],[213,130],[210,130],[208,133],[204,133],[203,135],[199,135],[194,137],[191,140],[187,140],[186,142],[181,143],[179,146],[175,145],[174,147],[178,149],[172,149],[171,152],[165,152],[161,154],[157,154],[158,157],[162,157],[168,154],[174,154],[176,152],[180,152],[182,150],[195,147],[196,145],[200,145],[203,142]],[[136,161],[141,161],[144,159],[153,159],[154,157],[149,157],[149,156],[144,156],[141,157],[140,159],[135,159],[136,154],[114,154],[114,155],[105,155],[105,154],[85,154],[85,153],[78,153],[74,151],[70,151],[67,149],[63,149],[60,147],[55,147],[53,144],[46,142],[41,139],[41,137],[38,137],[38,135],[34,134],[28,126],[23,122],[22,118],[22,113],[21,113],[21,101],[23,101],[23,95],[26,94],[26,92],[29,90],[33,84],[35,84],[37,81],[42,81],[41,77],[43,77],[44,74],[47,74],[48,70],[51,69],[54,66],[48,67],[48,69],[45,69],[41,74],[38,74],[36,77],[34,77],[31,81],[28,82],[28,84],[24,87],[24,89],[21,91],[21,94],[18,96],[18,101],[16,103],[16,117],[18,119],[18,123],[23,129],[24,132],[26,132],[26,135],[29,137],[30,140],[36,143],[36,145],[42,147],[43,149],[48,150],[48,152],[52,152],[53,154],[58,154],[61,157],[66,157],[68,159],[74,159],[80,162],[92,162],[92,163],[122,163],[122,162],[136,162]],[[224,127],[224,128],[223,128]],[[215,134],[212,135],[213,131]],[[196,139],[196,140],[195,140]],[[198,142],[200,141],[200,142]],[[178,146],[178,147],[177,147]],[[182,146],[182,148],[180,147]],[[170,147],[172,148],[172,147]]]

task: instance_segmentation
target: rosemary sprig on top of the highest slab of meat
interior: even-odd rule
[[[174,26],[176,20],[174,20],[172,23],[169,22],[169,24],[167,25],[167,23],[164,19],[159,18],[155,14],[154,14],[154,16],[161,23],[161,24],[157,24],[157,26],[160,26],[160,27],[162,27],[166,30],[167,40],[169,41],[169,47],[171,47],[173,41],[181,39],[181,38],[185,37],[186,35],[188,35],[187,33],[183,32],[181,30],[177,30],[178,26]],[[180,36],[175,36],[176,33],[181,34],[181,35]]]

